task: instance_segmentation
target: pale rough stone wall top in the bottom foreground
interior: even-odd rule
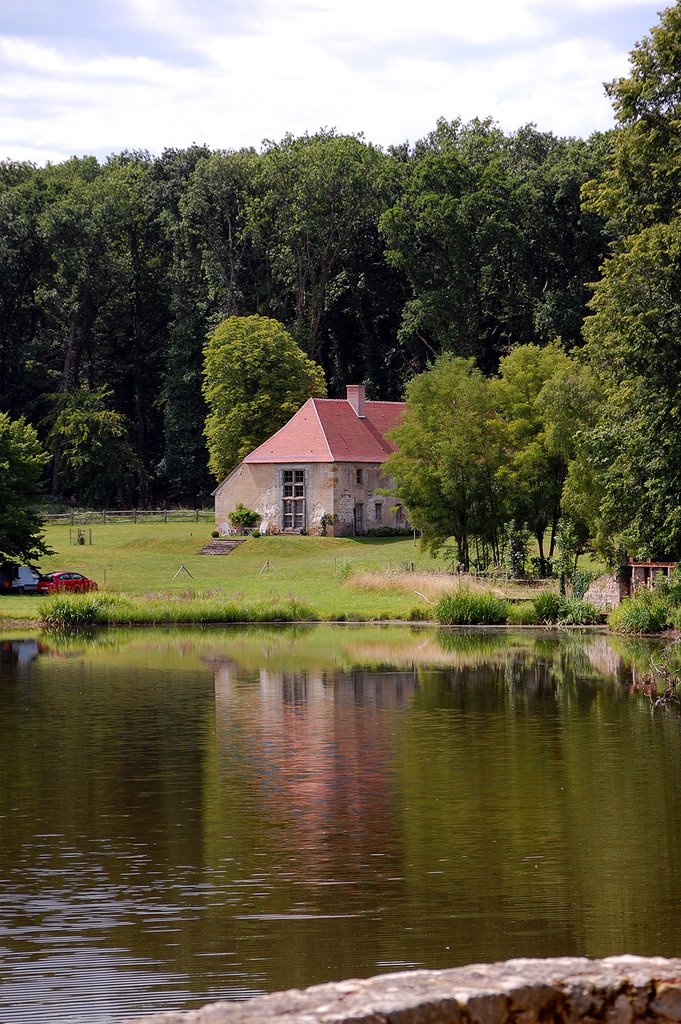
[[[128,1024],[664,1024],[681,1021],[681,959],[513,959],[410,971],[214,1002]]]

